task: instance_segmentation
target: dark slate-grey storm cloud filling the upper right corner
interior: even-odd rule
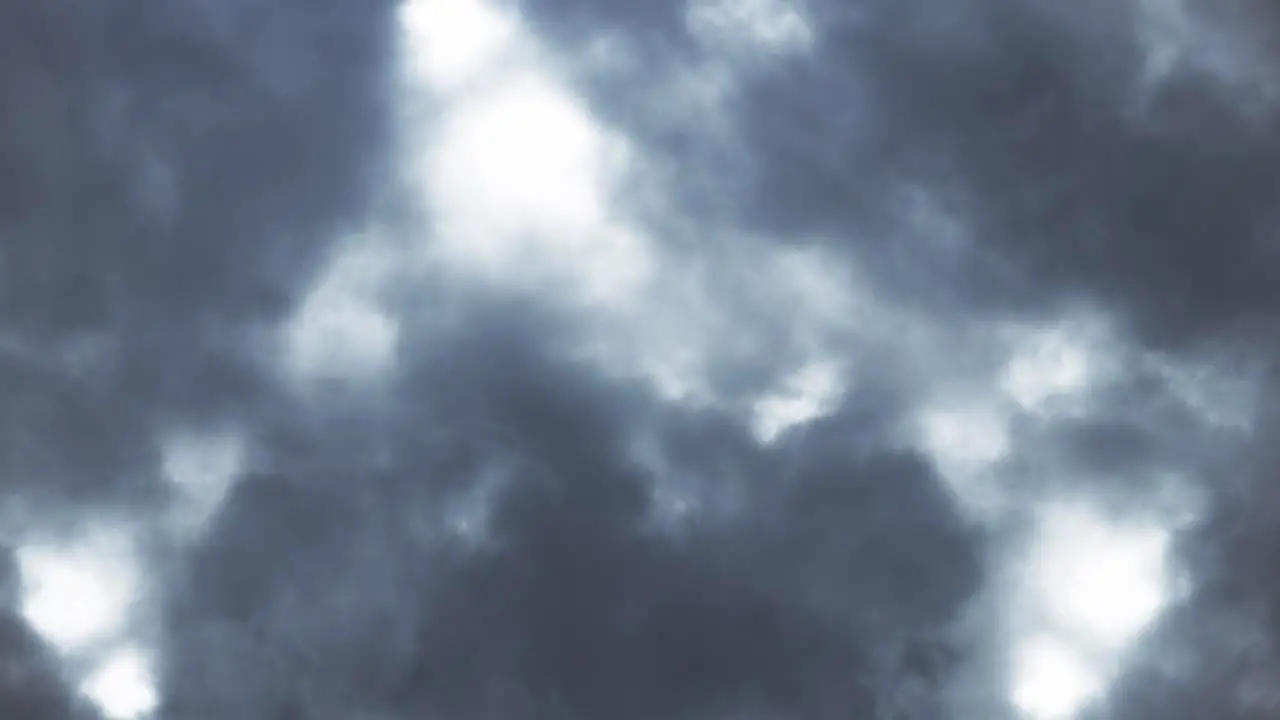
[[[660,126],[637,110],[645,83],[700,53],[673,26],[672,5],[645,13],[659,40],[628,35],[667,64],[636,65],[625,88],[589,83],[604,115],[640,126],[640,137]],[[635,22],[623,9],[600,18],[564,3],[522,6],[584,44]],[[1036,311],[1084,296],[1158,345],[1267,320],[1280,287],[1280,142],[1222,78],[1152,74],[1151,20],[1138,4],[808,8],[817,47],[746,79],[730,106],[732,156],[708,160],[709,170],[685,158],[691,182],[713,172],[723,192],[737,192],[744,225],[842,238],[906,295],[940,292],[922,286],[924,266],[946,301]],[[669,136],[654,143],[687,150]],[[937,247],[911,232],[918,209],[902,197],[914,191],[968,238],[951,265],[938,266]]]

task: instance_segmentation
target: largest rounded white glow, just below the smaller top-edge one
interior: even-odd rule
[[[456,272],[586,304],[648,279],[646,241],[611,208],[626,143],[549,74],[461,100],[425,155],[431,250]]]

